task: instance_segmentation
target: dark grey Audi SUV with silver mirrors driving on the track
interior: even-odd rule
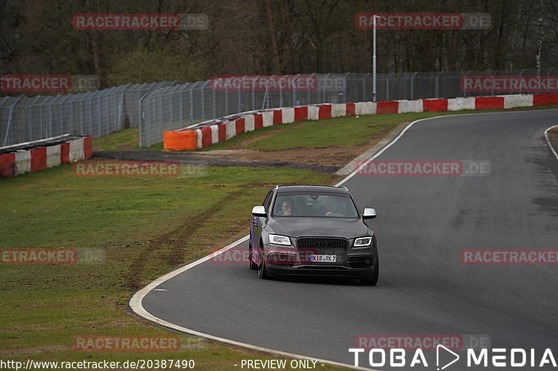
[[[376,236],[347,188],[289,185],[270,190],[252,209],[250,268],[259,278],[313,275],[357,278],[376,285]]]

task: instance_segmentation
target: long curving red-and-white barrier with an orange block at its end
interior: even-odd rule
[[[193,130],[163,133],[165,150],[198,149],[223,142],[243,132],[301,120],[322,120],[332,117],[363,114],[397,114],[406,112],[444,112],[462,109],[504,109],[558,104],[558,94],[518,94],[512,96],[483,96],[461,98],[435,98],[392,100],[387,102],[328,103],[299,107],[244,112],[235,117],[206,121]]]

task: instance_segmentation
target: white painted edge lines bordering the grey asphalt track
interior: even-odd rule
[[[533,109],[533,111],[543,111],[544,109]],[[483,114],[485,113],[506,113],[506,112],[483,112]],[[411,123],[409,123],[405,129],[403,129],[399,135],[395,138],[393,138],[391,140],[391,142],[389,142],[388,144],[386,144],[386,146],[382,147],[382,149],[380,149],[377,153],[375,153],[375,155],[373,155],[372,157],[368,158],[368,160],[366,161],[370,161],[370,160],[374,160],[375,158],[377,158],[378,156],[380,156],[382,153],[384,153],[384,151],[386,151],[387,149],[389,149],[389,147],[391,147],[393,144],[395,144],[395,142],[397,142],[402,136],[403,134],[405,134],[405,132],[407,132],[407,130],[409,130],[409,128],[411,128],[415,123],[420,122],[420,121],[425,121],[425,120],[430,120],[430,119],[437,119],[439,117],[446,117],[446,116],[461,116],[464,114],[451,114],[451,115],[441,115],[441,116],[433,116],[433,117],[427,117],[425,119],[418,119],[416,121],[412,121]],[[550,146],[550,149],[552,150],[552,153],[554,153],[554,155],[556,156],[557,160],[558,160],[558,154],[556,153],[556,151],[554,150],[554,148],[552,147],[552,145],[550,144],[550,141],[548,139],[548,131],[551,130],[552,128],[557,128],[558,126],[551,126],[550,128],[545,130],[545,139],[547,140],[548,145]],[[340,182],[338,182],[337,184],[335,184],[335,187],[338,187],[339,185],[342,185],[343,183],[345,183],[346,181],[348,181],[349,179],[351,179],[356,173],[359,172],[359,170],[365,166],[365,164],[361,165],[358,169],[355,169],[354,172],[352,172],[351,174],[347,175],[344,179],[342,179]],[[370,368],[361,368],[361,367],[356,367],[354,365],[349,365],[346,363],[339,363],[336,361],[329,361],[326,359],[320,359],[320,358],[312,358],[310,356],[301,356],[300,354],[294,354],[294,353],[289,353],[289,352],[285,352],[285,351],[278,351],[275,349],[269,349],[269,348],[264,348],[264,347],[259,347],[257,345],[251,345],[251,344],[247,344],[247,343],[243,343],[243,342],[237,342],[235,340],[230,340],[230,339],[225,339],[225,338],[220,338],[218,336],[214,336],[214,335],[209,335],[206,333],[201,333],[199,331],[194,331],[194,330],[190,330],[190,328],[185,328],[176,324],[173,324],[172,322],[168,322],[165,321],[164,319],[160,319],[158,317],[155,317],[154,315],[151,315],[151,313],[147,312],[147,310],[145,310],[145,308],[142,305],[142,301],[143,298],[149,294],[149,292],[151,292],[152,289],[154,289],[155,287],[157,287],[158,285],[162,284],[163,282],[166,282],[167,280],[170,280],[171,278],[173,278],[176,275],[179,275],[180,273],[183,273],[184,271],[188,271],[188,269],[193,268],[194,266],[197,266],[198,264],[202,264],[203,262],[206,262],[207,260],[211,259],[211,257],[215,257],[216,255],[220,255],[223,252],[226,252],[227,250],[233,248],[234,246],[238,245],[239,243],[243,243],[244,241],[248,240],[250,238],[250,235],[246,235],[243,236],[241,239],[238,239],[236,241],[234,241],[233,243],[229,243],[229,245],[225,246],[224,248],[213,252],[209,255],[206,255],[205,257],[202,257],[201,259],[197,259],[195,262],[192,262],[190,264],[186,264],[186,266],[182,266],[180,268],[175,269],[172,272],[169,272],[165,275],[162,275],[161,277],[157,278],[156,280],[153,280],[152,282],[149,283],[149,285],[146,285],[145,287],[142,287],[142,289],[138,290],[137,292],[135,292],[135,294],[133,294],[132,298],[130,298],[130,301],[128,302],[128,305],[130,306],[130,309],[138,316],[147,319],[148,321],[152,321],[156,324],[159,324],[160,326],[164,326],[167,328],[172,328],[176,331],[181,331],[183,333],[189,333],[191,335],[196,335],[196,336],[200,336],[202,338],[207,338],[210,340],[216,340],[218,342],[224,342],[226,344],[230,344],[230,345],[236,345],[238,347],[243,347],[246,349],[252,349],[255,351],[264,351],[265,353],[270,353],[270,354],[276,354],[278,356],[285,356],[285,357],[290,357],[290,358],[311,358],[314,359],[318,362],[321,363],[328,363],[330,365],[335,365],[335,366],[340,366],[340,367],[345,367],[345,368],[352,368],[354,370],[372,370]],[[374,370],[372,370],[374,371]]]

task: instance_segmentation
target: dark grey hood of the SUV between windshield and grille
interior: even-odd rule
[[[361,219],[297,218],[296,216],[291,216],[270,218],[268,225],[276,234],[294,238],[302,236],[328,236],[354,239],[368,234],[368,227]]]

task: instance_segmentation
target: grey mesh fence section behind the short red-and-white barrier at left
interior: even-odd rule
[[[178,82],[126,84],[63,96],[0,98],[0,146],[31,142],[66,133],[109,135],[140,122],[140,98]]]

